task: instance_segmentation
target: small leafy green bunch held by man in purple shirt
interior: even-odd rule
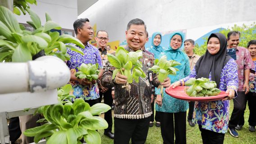
[[[78,72],[75,74],[77,78],[84,79],[86,78],[89,81],[97,80],[99,78],[100,71],[98,70],[99,64],[85,64],[82,63],[80,67],[78,67]]]

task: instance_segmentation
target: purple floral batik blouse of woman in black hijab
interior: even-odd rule
[[[186,82],[192,77],[196,77],[195,68],[183,80]],[[211,80],[211,73],[209,75]],[[238,69],[237,63],[233,58],[223,67],[220,75],[219,89],[226,91],[238,90]],[[203,129],[211,130],[217,133],[226,133],[229,124],[229,100],[196,102],[193,112],[193,122],[201,125]]]

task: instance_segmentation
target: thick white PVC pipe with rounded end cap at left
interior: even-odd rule
[[[69,67],[54,56],[27,63],[0,63],[0,94],[53,90],[69,80]]]

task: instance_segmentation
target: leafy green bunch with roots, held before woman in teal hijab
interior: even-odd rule
[[[175,66],[180,65],[180,63],[175,60],[167,60],[167,57],[164,55],[160,59],[155,59],[154,66],[149,68],[149,71],[152,71],[157,74],[158,80],[162,83],[168,77],[168,75],[176,75],[176,72],[179,71]],[[159,85],[161,88],[160,94],[163,96],[163,85]]]

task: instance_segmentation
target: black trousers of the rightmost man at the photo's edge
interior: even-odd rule
[[[244,111],[246,109],[247,101],[248,101],[248,107],[250,110],[249,119],[248,119],[249,125],[256,126],[256,93],[249,92],[248,94],[246,94]],[[242,112],[242,116],[238,123],[238,125],[241,125],[241,126],[244,125],[244,111]]]

